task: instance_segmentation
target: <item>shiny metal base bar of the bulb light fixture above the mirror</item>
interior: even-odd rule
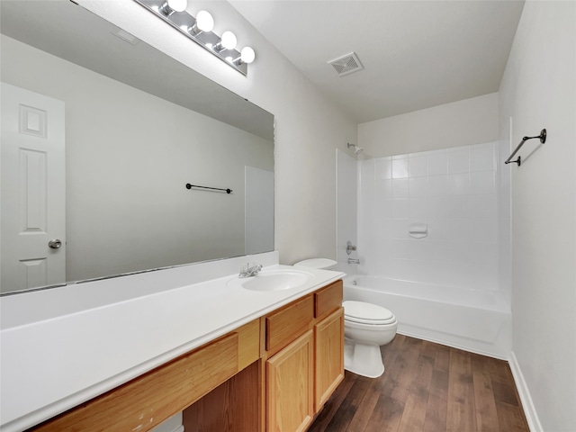
[[[202,31],[198,34],[190,33],[187,29],[193,27],[196,23],[195,18],[191,14],[186,13],[174,13],[174,14],[162,14],[160,12],[160,8],[163,4],[166,3],[166,0],[134,0],[136,3],[144,6],[148,9],[149,12],[155,14],[158,18],[161,18],[166,23],[170,24],[174,27],[177,31],[180,31],[184,36],[188,39],[193,40],[198,45],[200,45],[203,49],[210,51],[214,56],[220,58],[223,62],[225,62],[230,67],[238,70],[238,72],[242,75],[247,75],[248,67],[247,63],[240,63],[235,64],[232,61],[229,61],[229,58],[238,58],[240,53],[236,49],[222,49],[220,51],[216,51],[214,49],[209,48],[216,46],[220,43],[220,37],[213,33],[212,31]]]

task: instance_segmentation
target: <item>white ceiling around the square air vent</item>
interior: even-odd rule
[[[497,92],[520,0],[230,0],[358,123]],[[364,69],[329,60],[356,52]],[[255,64],[256,67],[256,64]]]

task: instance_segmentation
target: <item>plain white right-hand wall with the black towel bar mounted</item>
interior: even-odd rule
[[[527,1],[500,85],[500,135],[509,117],[513,146],[548,131],[509,166],[512,349],[533,430],[576,428],[575,57],[576,3]]]

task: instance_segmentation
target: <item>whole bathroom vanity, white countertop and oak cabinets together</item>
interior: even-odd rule
[[[292,269],[270,266],[262,275]],[[342,274],[298,272],[306,283],[282,290],[238,288],[238,276],[229,275],[9,329],[3,324],[3,405],[6,397],[21,399],[3,408],[3,422],[13,417],[3,430],[145,431],[183,410],[187,432],[305,430],[344,377]],[[65,323],[64,337],[52,338],[51,348],[37,339],[37,356],[27,359],[31,339],[23,337],[40,337],[54,322]],[[155,348],[165,339],[172,349]],[[126,347],[117,351],[119,341]],[[53,363],[60,360],[63,367]],[[109,364],[123,371],[112,374]],[[34,388],[43,399],[27,401]]]

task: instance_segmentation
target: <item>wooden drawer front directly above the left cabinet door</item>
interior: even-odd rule
[[[314,299],[311,295],[293,302],[280,311],[266,317],[266,351],[275,352],[304,331],[309,329],[314,318]]]

